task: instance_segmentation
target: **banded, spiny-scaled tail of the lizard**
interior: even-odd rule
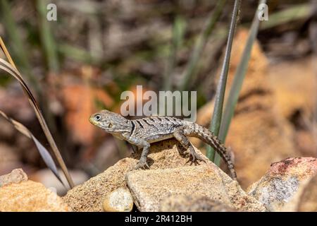
[[[216,150],[216,152],[223,158],[228,169],[230,170],[230,174],[232,179],[237,180],[237,173],[235,172],[235,167],[232,162],[232,155],[228,151],[227,148],[221,143],[217,136],[213,135],[211,131],[206,129],[204,126],[200,126],[199,124],[194,124],[194,131],[189,131],[190,134],[188,136],[194,136],[199,138],[201,141],[208,143],[211,147]]]

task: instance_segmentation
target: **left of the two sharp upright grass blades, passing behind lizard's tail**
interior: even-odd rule
[[[215,107],[213,109],[213,117],[211,119],[211,125],[210,125],[210,130],[216,136],[218,136],[219,129],[220,129],[220,122],[221,122],[221,117],[223,112],[223,99],[225,97],[225,85],[227,83],[230,54],[232,49],[233,37],[235,35],[235,27],[237,24],[237,16],[239,13],[240,4],[241,4],[241,0],[235,0],[235,5],[233,7],[232,18],[230,22],[227,47],[225,49],[225,58],[223,60],[223,66],[220,72],[219,83],[218,83],[217,91],[216,91]],[[214,162],[215,150],[213,150],[213,148],[208,146],[206,155],[210,160],[213,160]],[[219,165],[220,162],[215,162],[215,164]]]

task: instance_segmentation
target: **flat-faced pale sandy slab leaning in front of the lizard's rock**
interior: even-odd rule
[[[135,170],[128,172],[126,178],[140,211],[159,211],[163,199],[180,194],[206,196],[238,210],[265,210],[212,162],[175,169]]]

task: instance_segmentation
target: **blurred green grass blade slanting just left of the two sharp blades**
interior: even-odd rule
[[[192,51],[189,63],[185,69],[184,79],[182,80],[182,83],[180,83],[179,90],[185,90],[188,87],[190,81],[194,80],[194,76],[197,74],[197,65],[199,58],[201,57],[201,53],[203,52],[207,40],[211,36],[211,32],[213,31],[213,28],[215,27],[216,22],[223,11],[226,1],[227,0],[218,1],[216,8],[209,16],[204,30],[201,32],[197,41],[195,42],[194,50]]]

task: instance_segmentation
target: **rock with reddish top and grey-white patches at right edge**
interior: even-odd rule
[[[280,211],[304,184],[317,173],[317,159],[314,157],[292,157],[275,162],[266,174],[252,184],[248,194],[254,196],[270,211]],[[294,208],[288,208],[292,210]]]

